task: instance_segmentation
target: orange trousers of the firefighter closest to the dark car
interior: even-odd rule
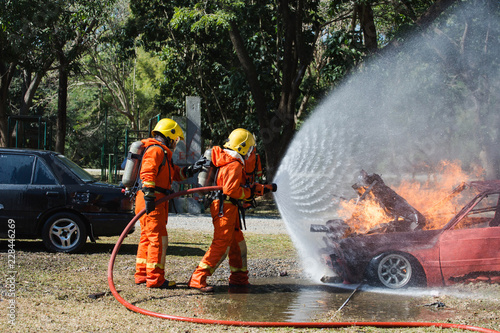
[[[136,214],[144,209],[142,191],[137,193]],[[165,282],[165,256],[168,247],[167,233],[168,201],[140,218],[141,238],[135,263],[135,283],[144,283],[149,288],[160,287]]]

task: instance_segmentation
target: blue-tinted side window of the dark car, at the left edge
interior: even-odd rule
[[[33,155],[0,154],[0,184],[31,184]]]

